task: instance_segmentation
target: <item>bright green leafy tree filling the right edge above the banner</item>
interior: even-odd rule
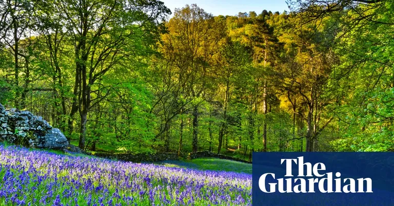
[[[311,24],[324,18],[338,24],[327,31],[335,34],[330,47],[341,56],[330,81],[341,99],[335,110],[342,136],[332,142],[336,150],[392,149],[386,141],[393,117],[393,78],[387,70],[392,64],[387,36],[394,25],[392,5],[390,1],[293,1],[293,9],[304,12]]]

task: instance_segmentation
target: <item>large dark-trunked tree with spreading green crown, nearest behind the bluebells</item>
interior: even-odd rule
[[[56,4],[56,12],[66,21],[74,45],[75,84],[70,118],[79,111],[79,147],[84,149],[88,112],[96,100],[92,96],[100,89],[92,89],[95,83],[122,59],[146,51],[159,32],[159,21],[169,10],[156,0],[64,0]]]

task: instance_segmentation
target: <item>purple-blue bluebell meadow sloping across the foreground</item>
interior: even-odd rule
[[[251,205],[251,177],[0,145],[0,205]]]

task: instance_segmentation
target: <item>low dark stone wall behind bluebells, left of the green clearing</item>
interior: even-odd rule
[[[141,162],[159,162],[166,160],[178,160],[178,154],[176,153],[106,153],[106,152],[95,152],[94,156],[117,159],[120,161],[141,163]]]

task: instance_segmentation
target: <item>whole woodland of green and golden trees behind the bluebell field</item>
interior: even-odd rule
[[[0,103],[96,151],[394,151],[394,2],[1,0]]]

